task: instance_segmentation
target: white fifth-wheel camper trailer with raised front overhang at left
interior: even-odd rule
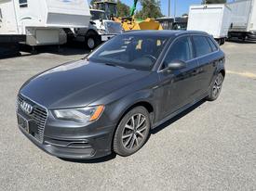
[[[87,27],[87,0],[0,0],[0,35],[26,35],[27,45],[62,45],[64,28]]]

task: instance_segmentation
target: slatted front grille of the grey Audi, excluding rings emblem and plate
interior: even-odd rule
[[[33,112],[31,114],[26,114],[22,111],[22,109],[20,108],[20,104],[22,103],[22,101],[25,101],[33,106]],[[44,131],[47,122],[47,109],[38,105],[34,101],[20,95],[18,96],[17,107],[18,109],[20,109],[21,112],[23,112],[23,114],[29,117],[30,120],[34,121],[34,125],[37,131],[34,131],[31,135],[33,135],[37,141],[43,143]]]

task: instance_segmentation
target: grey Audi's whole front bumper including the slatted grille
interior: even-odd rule
[[[32,112],[25,112],[21,103],[31,105]],[[16,111],[20,131],[48,154],[65,159],[96,159],[112,152],[115,122],[105,113],[98,121],[86,124],[62,121],[25,96],[19,96]]]

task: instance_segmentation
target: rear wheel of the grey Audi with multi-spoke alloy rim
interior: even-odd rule
[[[209,90],[209,96],[207,97],[208,101],[214,101],[220,96],[222,91],[223,80],[224,80],[224,77],[221,72],[218,73],[218,75],[213,78],[213,81]]]

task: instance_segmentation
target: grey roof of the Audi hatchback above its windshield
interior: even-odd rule
[[[154,30],[134,30],[128,31],[125,33],[134,34],[134,35],[159,35],[162,37],[170,37],[170,36],[179,36],[182,34],[202,34],[202,35],[209,35],[207,32],[196,32],[196,31],[173,31],[173,30],[161,30],[161,31],[154,31]]]

